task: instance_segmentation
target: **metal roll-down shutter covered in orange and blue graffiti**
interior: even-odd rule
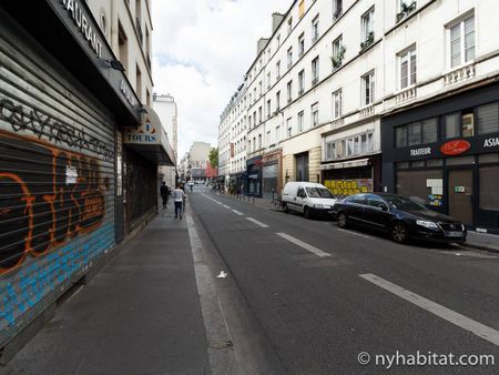
[[[114,123],[0,22],[0,345],[114,245]]]

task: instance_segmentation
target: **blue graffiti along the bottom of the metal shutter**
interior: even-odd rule
[[[106,224],[26,265],[12,282],[0,290],[0,331],[14,324],[22,314],[64,282],[85,272],[92,260],[113,245],[114,226]]]

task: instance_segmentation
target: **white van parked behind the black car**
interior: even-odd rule
[[[316,182],[288,182],[283,190],[284,212],[302,212],[312,215],[332,215],[335,196],[323,184]]]

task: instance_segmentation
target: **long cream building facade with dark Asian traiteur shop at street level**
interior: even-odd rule
[[[277,189],[318,181],[337,196],[397,192],[497,231],[488,183],[499,176],[499,27],[488,17],[497,9],[480,0],[296,0],[273,14],[240,100],[254,193],[268,194],[265,166],[274,163]]]

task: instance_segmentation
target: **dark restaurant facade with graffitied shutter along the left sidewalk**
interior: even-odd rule
[[[14,353],[156,212],[171,152],[86,2],[2,2],[0,54],[0,347]]]

